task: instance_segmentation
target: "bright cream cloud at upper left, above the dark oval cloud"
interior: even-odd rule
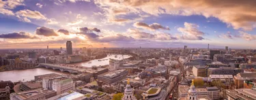
[[[20,10],[20,11],[16,12],[16,14],[18,16],[23,16],[23,17],[27,17],[27,18],[33,18],[33,19],[37,19],[37,20],[46,20],[46,17],[38,11]]]

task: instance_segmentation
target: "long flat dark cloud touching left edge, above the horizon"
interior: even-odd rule
[[[19,32],[19,33],[7,33],[0,34],[0,38],[5,39],[36,39],[38,37],[31,35],[30,33]]]

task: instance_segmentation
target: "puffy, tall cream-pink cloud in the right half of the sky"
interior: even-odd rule
[[[205,35],[205,33],[203,33],[202,31],[199,31],[197,27],[199,27],[197,24],[184,22],[184,27],[178,28],[177,31],[180,31],[181,33],[184,34],[182,35],[183,39],[201,40],[203,39],[202,36]]]

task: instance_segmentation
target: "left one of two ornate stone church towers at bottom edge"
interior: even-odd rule
[[[124,90],[124,97],[122,98],[122,100],[137,100],[133,96],[133,90],[132,87],[130,86],[130,79],[127,80],[127,85],[126,89]]]

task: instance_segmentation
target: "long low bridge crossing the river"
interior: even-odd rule
[[[83,73],[85,72],[85,69],[79,69],[75,67],[66,67],[63,65],[53,65],[53,64],[48,64],[48,63],[40,63],[37,67],[45,67],[47,69],[53,69],[53,70],[59,70],[62,72],[69,72],[69,73]]]

